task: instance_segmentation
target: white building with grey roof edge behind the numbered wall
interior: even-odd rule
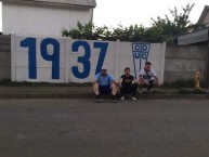
[[[93,18],[95,0],[0,0],[2,31],[24,36],[62,36],[63,28]]]

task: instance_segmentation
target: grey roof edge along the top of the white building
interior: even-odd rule
[[[80,5],[80,6],[90,6],[95,8],[95,0],[0,0],[2,2],[36,2],[36,3],[48,3],[48,4],[57,4],[57,5]]]

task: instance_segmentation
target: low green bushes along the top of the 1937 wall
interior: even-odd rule
[[[154,34],[154,29],[145,29],[143,25],[131,25],[123,27],[121,24],[117,28],[108,28],[107,26],[97,27],[93,23],[82,25],[77,24],[77,28],[63,29],[63,37],[83,40],[108,40],[108,41],[130,41],[130,42],[162,42],[164,37],[158,32]]]

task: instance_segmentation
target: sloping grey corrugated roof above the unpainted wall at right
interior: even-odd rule
[[[207,41],[209,39],[208,30],[209,28],[206,28],[187,35],[179,36],[178,44],[184,45]]]

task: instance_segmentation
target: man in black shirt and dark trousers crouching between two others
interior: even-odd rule
[[[138,81],[134,79],[132,75],[130,75],[131,70],[129,67],[125,68],[125,75],[120,77],[120,100],[125,100],[126,94],[131,94],[131,99],[135,101],[135,94],[138,90]]]

